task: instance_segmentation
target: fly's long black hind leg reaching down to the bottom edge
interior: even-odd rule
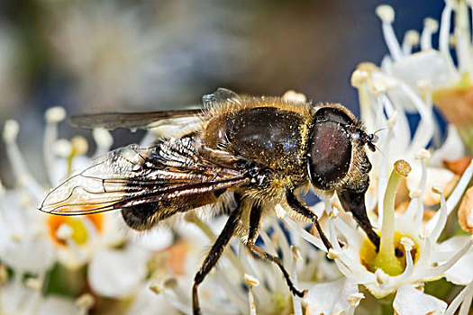
[[[205,257],[204,263],[202,264],[196,274],[196,277],[194,278],[194,286],[192,287],[192,309],[194,315],[201,314],[199,307],[199,298],[197,295],[197,287],[204,281],[205,276],[212,270],[219,258],[222,256],[223,249],[225,249],[225,247],[227,246],[228,242],[233,236],[233,232],[238,226],[240,215],[240,207],[237,207],[235,210],[232,211],[230,217],[228,218],[225,224],[225,227],[218,236],[217,240],[215,240],[214,245],[210,249],[210,252],[208,253],[207,257]]]

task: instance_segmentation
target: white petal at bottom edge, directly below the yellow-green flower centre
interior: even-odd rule
[[[443,314],[447,303],[422,293],[415,289],[414,285],[407,284],[397,290],[393,308],[399,315]]]

